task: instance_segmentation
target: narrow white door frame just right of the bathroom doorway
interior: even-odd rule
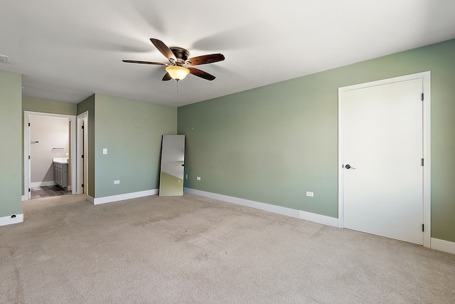
[[[83,122],[83,124],[82,124]],[[84,130],[82,130],[82,125]],[[84,136],[81,136],[83,132]],[[88,194],[88,111],[77,115],[77,194]],[[83,142],[82,142],[83,140]],[[82,151],[84,147],[84,151]],[[82,154],[84,159],[82,159]],[[83,172],[83,174],[82,174]],[[85,182],[84,182],[85,177]],[[82,184],[84,187],[82,188]]]

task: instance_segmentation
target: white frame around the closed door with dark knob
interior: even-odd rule
[[[348,85],[346,87],[338,88],[338,227],[344,228],[343,224],[343,103],[346,100],[344,97],[345,92],[350,90],[357,90],[360,88],[368,88],[376,85],[386,85],[390,83],[398,83],[406,80],[422,79],[422,122],[423,122],[423,138],[422,138],[422,155],[424,159],[423,166],[423,194],[422,194],[422,224],[424,224],[423,231],[423,246],[430,247],[431,241],[431,132],[430,132],[430,71],[415,73],[411,75],[404,75],[395,78],[387,78],[383,80],[372,81],[369,83],[360,83],[357,85]]]

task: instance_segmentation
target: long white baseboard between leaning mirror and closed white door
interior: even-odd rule
[[[185,188],[184,191],[190,194],[196,194],[199,196],[208,197],[209,199],[218,199],[219,201],[226,201],[228,203],[247,206],[255,209],[260,209],[264,211],[269,211],[276,214],[282,214],[286,216],[295,217],[297,219],[304,219],[306,221],[314,221],[315,223],[334,226],[338,227],[338,219],[330,217],[330,216],[323,216],[321,214],[313,214],[311,212],[291,209],[282,206],[275,206],[272,204],[265,204],[259,201],[250,201],[248,199],[239,199],[233,196],[227,196],[223,194],[216,194],[212,192],[205,192],[191,188]]]

